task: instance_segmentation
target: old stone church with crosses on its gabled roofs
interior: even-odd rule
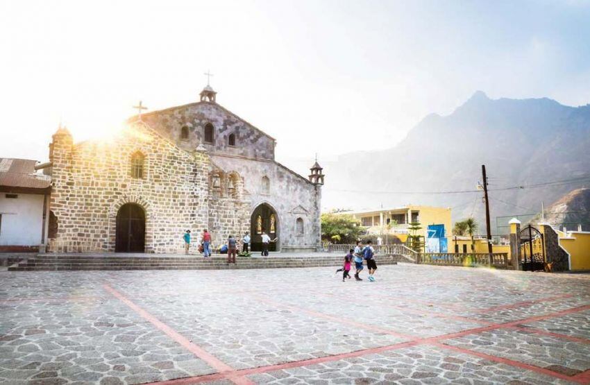
[[[212,245],[261,234],[270,250],[321,246],[323,173],[307,178],[275,160],[276,140],[219,105],[201,100],[137,114],[109,141],[74,141],[60,127],[49,146],[49,251],[180,253],[203,229]]]

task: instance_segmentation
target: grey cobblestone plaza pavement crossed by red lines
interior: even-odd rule
[[[590,384],[590,277],[0,272],[6,384]]]

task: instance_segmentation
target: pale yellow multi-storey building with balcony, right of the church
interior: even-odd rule
[[[450,208],[407,205],[394,208],[380,208],[342,212],[359,220],[361,225],[367,228],[369,234],[396,235],[401,241],[405,241],[409,223],[419,222],[422,229],[417,235],[426,237],[428,225],[444,225],[446,236],[450,235]]]

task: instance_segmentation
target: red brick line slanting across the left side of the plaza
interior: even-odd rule
[[[149,312],[147,312],[146,310],[135,305],[135,303],[126,298],[126,296],[124,296],[123,294],[119,293],[119,291],[113,289],[108,284],[103,284],[103,288],[106,291],[108,291],[108,293],[112,294],[112,296],[114,296],[115,298],[123,302],[125,305],[127,305],[130,309],[135,311],[135,313],[139,314],[142,318],[149,321],[149,323],[151,323],[155,327],[158,327],[158,329],[162,330],[162,332],[164,332],[167,336],[176,341],[176,343],[183,346],[183,348],[194,354],[199,359],[205,361],[205,363],[207,363],[215,370],[219,371],[220,373],[235,372],[235,369],[229,366],[227,363],[224,363],[223,361],[215,357],[213,354],[210,354],[203,348],[192,343],[185,336],[181,335],[180,333],[176,332],[176,330],[172,329],[162,321],[158,320],[158,318],[155,318],[155,316],[149,314]],[[230,375],[227,378],[233,381],[235,384],[253,384],[253,382],[249,381],[245,377],[235,377],[235,375]]]

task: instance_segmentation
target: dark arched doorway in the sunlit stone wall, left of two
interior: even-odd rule
[[[146,215],[142,207],[133,203],[122,205],[117,212],[118,253],[144,253],[146,239]]]

